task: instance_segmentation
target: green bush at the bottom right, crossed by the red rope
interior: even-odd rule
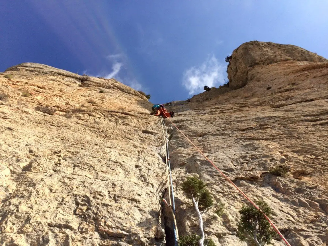
[[[259,200],[256,205],[266,214],[271,217],[272,210],[268,204]],[[244,242],[249,242],[251,245],[263,246],[270,243],[275,235],[269,221],[267,221],[260,211],[252,205],[243,205],[239,210],[241,215],[237,223],[237,237]]]

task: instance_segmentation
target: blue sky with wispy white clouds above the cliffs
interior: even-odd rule
[[[0,71],[37,62],[185,100],[223,84],[225,56],[247,41],[328,58],[327,13],[326,0],[3,0]]]

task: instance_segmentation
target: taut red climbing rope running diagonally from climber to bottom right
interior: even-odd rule
[[[204,155],[204,157],[212,164],[212,166],[220,172],[220,174],[222,174],[223,177],[225,177],[226,180],[229,181],[229,183],[231,183],[236,189],[237,191],[239,191],[258,211],[260,211],[264,217],[266,218],[267,221],[269,221],[269,223],[272,225],[273,229],[275,229],[275,231],[278,233],[278,235],[281,237],[281,239],[286,243],[287,246],[291,246],[289,244],[289,242],[286,240],[286,238],[279,232],[279,230],[277,229],[277,227],[274,225],[274,223],[271,221],[271,219],[269,219],[269,217],[263,213],[263,211],[245,194],[243,193],[224,173],[222,173],[222,171],[220,169],[217,168],[217,166],[215,166],[215,164],[183,133],[180,131],[180,129],[172,122],[172,120],[170,118],[167,118],[174,126],[176,129],[178,129],[178,131],[185,136],[185,138],[188,139],[188,141],[194,145],[194,147],[202,154]]]

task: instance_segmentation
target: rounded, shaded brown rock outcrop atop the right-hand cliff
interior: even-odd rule
[[[247,42],[232,53],[228,66],[230,88],[234,90],[245,86],[249,79],[248,71],[257,65],[269,65],[288,60],[328,62],[324,57],[295,45],[258,41]]]

